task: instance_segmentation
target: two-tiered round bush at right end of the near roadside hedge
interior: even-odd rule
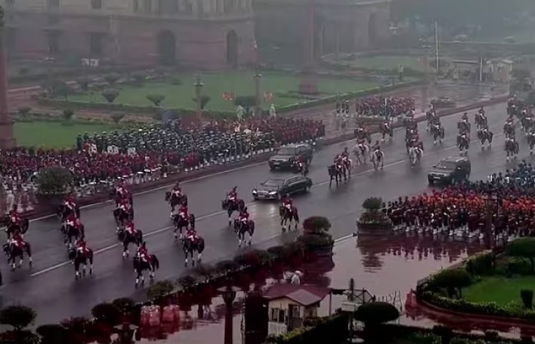
[[[317,256],[332,255],[332,246],[335,241],[327,232],[331,225],[327,218],[312,216],[303,221],[304,233],[297,237],[297,245],[302,246],[307,253]]]

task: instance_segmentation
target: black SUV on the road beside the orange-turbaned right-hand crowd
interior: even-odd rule
[[[449,156],[433,166],[427,174],[429,184],[452,183],[467,180],[472,171],[472,164],[465,156]]]

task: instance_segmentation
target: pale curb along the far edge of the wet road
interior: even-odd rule
[[[437,113],[441,117],[450,116],[454,113],[462,113],[465,111],[473,110],[474,108],[480,108],[481,106],[489,106],[489,105],[494,105],[496,103],[501,103],[503,101],[506,101],[508,98],[509,96],[499,96],[496,98],[491,98],[486,101],[479,101],[477,103],[472,103],[467,106],[460,106],[457,108],[447,108],[447,109],[444,109],[443,111],[437,111]],[[417,116],[415,119],[417,122],[422,122],[426,120],[426,117]],[[401,126],[402,126],[402,123],[397,123],[394,127],[399,128]],[[378,126],[372,126],[371,133],[377,133],[378,129],[379,129]],[[355,138],[355,136],[354,136],[354,133],[352,133],[351,131],[350,133],[345,133],[341,136],[337,136],[333,138],[326,138],[322,140],[322,146],[330,146],[336,143],[342,143],[345,141],[349,141],[352,138]],[[143,183],[143,184],[133,185],[133,186],[130,186],[130,188],[131,188],[132,193],[135,195],[136,193],[151,191],[153,189],[162,188],[164,186],[171,186],[173,185],[173,183],[176,183],[177,181],[188,181],[188,180],[200,178],[203,176],[210,176],[211,174],[214,174],[214,173],[222,173],[225,171],[230,171],[233,168],[244,168],[247,166],[252,166],[256,163],[267,161],[272,155],[273,155],[272,152],[262,153],[257,156],[254,156],[253,158],[248,158],[247,160],[226,163],[225,165],[217,165],[217,166],[210,166],[206,168],[200,168],[198,170],[190,171],[186,173],[177,173],[175,175],[169,176],[168,178],[161,178],[161,179],[158,179],[157,181],[150,181],[150,182]],[[111,198],[108,196],[108,194],[102,193],[102,194],[98,194],[95,196],[91,196],[90,198],[86,198],[86,199],[81,198],[78,201],[78,204],[79,206],[90,206],[95,203],[103,203],[103,202],[110,201],[110,200]],[[39,207],[39,205],[36,205],[36,206]],[[47,209],[36,208],[32,211],[26,211],[22,213],[21,215],[26,218],[33,219],[33,218],[39,218],[43,216],[49,216],[50,211]]]

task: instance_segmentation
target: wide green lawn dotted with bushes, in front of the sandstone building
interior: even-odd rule
[[[206,106],[207,110],[213,111],[235,111],[232,101],[223,99],[223,92],[233,92],[235,96],[254,96],[255,81],[253,71],[231,71],[201,76],[204,87],[203,94],[210,96],[210,102]],[[195,76],[185,74],[177,76],[182,84],[173,85],[170,82],[154,81],[147,82],[143,86],[119,86],[119,96],[115,103],[122,103],[134,106],[150,106],[146,96],[150,93],[160,93],[165,96],[161,106],[169,108],[195,108],[192,98],[195,96]],[[285,96],[277,96],[277,93],[287,93],[297,91],[300,78],[294,74],[281,74],[275,72],[264,72],[261,79],[261,91],[271,92],[273,99],[270,102],[263,100],[263,108],[269,108],[270,103],[275,107],[286,106],[292,103],[305,102],[306,98],[298,94],[291,93]],[[318,79],[321,96],[335,95],[379,86],[374,81],[355,81],[352,79],[337,79],[335,77],[322,77]],[[71,101],[88,101],[102,103],[105,102],[100,91],[69,96]]]

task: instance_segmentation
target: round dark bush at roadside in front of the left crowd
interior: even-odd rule
[[[39,171],[36,178],[39,204],[46,204],[56,210],[72,182],[73,174],[67,168],[50,167]]]

